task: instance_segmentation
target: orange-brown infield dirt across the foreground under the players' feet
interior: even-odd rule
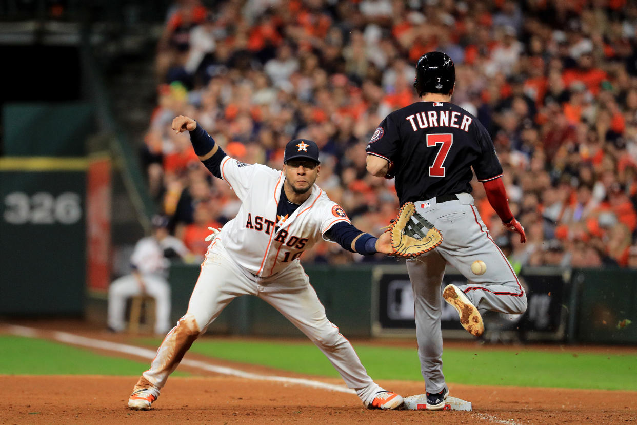
[[[583,424],[637,421],[635,393],[450,385],[472,412],[367,410],[353,394],[241,378],[169,380],[154,409],[126,407],[136,378],[0,376],[0,423],[7,424]],[[338,380],[326,382],[339,383]],[[380,384],[401,394],[414,382]]]

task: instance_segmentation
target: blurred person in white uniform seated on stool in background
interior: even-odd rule
[[[156,215],[152,219],[153,234],[140,239],[132,252],[132,273],[124,275],[108,287],[108,328],[115,332],[125,329],[124,310],[127,298],[148,294],[155,298],[155,333],[170,329],[170,285],[167,274],[173,256],[185,257],[189,250],[183,242],[168,233],[168,218]]]

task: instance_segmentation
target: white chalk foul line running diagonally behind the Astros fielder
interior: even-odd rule
[[[25,326],[7,326],[6,329],[13,335],[27,336],[29,338],[37,338],[39,336],[38,330],[33,328],[26,328]],[[108,351],[115,351],[125,354],[131,354],[132,356],[142,357],[143,359],[152,360],[155,358],[155,351],[149,349],[143,349],[141,347],[135,347],[134,345],[120,344],[116,342],[96,340],[94,338],[87,338],[85,336],[74,335],[72,333],[55,331],[53,338],[56,341],[69,343],[73,345],[81,345],[82,347],[90,347],[93,349],[101,349]],[[303,378],[288,378],[277,377],[272,375],[259,375],[258,373],[250,373],[240,369],[226,368],[224,366],[215,366],[214,364],[206,363],[204,361],[183,359],[184,366],[190,366],[193,368],[200,368],[203,370],[220,373],[222,375],[231,375],[234,377],[240,377],[252,380],[266,380],[273,382],[282,382],[283,384],[297,384],[304,385],[306,387],[327,389],[330,391],[338,391],[340,393],[354,394],[353,389],[344,387],[343,385],[327,384],[326,382],[315,381],[311,379]]]

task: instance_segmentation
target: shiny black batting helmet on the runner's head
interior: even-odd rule
[[[454,61],[443,52],[429,52],[416,64],[416,78],[413,80],[418,96],[423,93],[448,94],[454,88]]]

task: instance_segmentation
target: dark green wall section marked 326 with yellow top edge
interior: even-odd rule
[[[86,166],[0,158],[1,315],[82,314]]]

